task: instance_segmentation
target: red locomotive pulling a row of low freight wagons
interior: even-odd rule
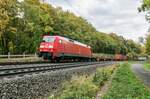
[[[123,55],[101,57],[92,54],[91,47],[78,41],[62,36],[44,35],[38,49],[39,57],[44,60],[58,61],[100,61],[124,60]]]

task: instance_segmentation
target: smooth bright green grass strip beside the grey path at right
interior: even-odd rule
[[[122,64],[117,70],[109,91],[103,99],[150,99],[150,90],[145,88],[130,69]]]

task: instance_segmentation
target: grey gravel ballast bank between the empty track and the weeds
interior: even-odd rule
[[[72,75],[91,74],[97,67],[100,66],[78,67],[1,79],[0,99],[44,99],[55,94],[61,88],[62,82],[69,80]]]

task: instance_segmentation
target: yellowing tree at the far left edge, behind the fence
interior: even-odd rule
[[[14,20],[17,14],[16,0],[0,1],[0,45],[3,53],[9,51],[12,33],[16,32],[16,28],[12,25],[12,20]]]

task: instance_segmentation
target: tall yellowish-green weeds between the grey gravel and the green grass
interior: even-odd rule
[[[109,79],[113,73],[114,66],[97,69],[91,76],[75,76],[69,82],[63,84],[63,90],[49,99],[94,99],[99,88]]]

